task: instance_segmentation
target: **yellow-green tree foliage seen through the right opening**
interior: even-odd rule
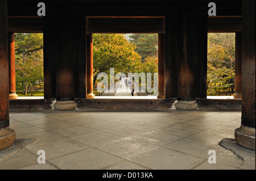
[[[208,33],[208,95],[216,95],[217,91],[227,95],[226,89],[234,91],[234,63],[234,33]]]

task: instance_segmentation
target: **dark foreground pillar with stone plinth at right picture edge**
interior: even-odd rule
[[[255,150],[255,1],[242,1],[242,117],[236,141]]]

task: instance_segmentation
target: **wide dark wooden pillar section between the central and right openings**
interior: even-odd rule
[[[207,3],[179,3],[166,16],[166,98],[207,98]]]

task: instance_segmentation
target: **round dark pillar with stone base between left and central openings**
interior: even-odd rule
[[[53,18],[52,31],[52,60],[55,61],[56,74],[56,110],[73,110],[76,108],[75,99],[75,67],[78,50],[73,30],[74,18],[61,16]]]

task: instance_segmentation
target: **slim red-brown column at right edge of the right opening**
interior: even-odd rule
[[[234,98],[242,98],[242,32],[236,32],[235,60],[235,93]]]

